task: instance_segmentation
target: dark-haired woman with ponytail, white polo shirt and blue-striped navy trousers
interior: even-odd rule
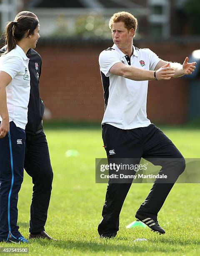
[[[18,231],[18,192],[23,182],[25,125],[30,96],[30,48],[35,48],[39,23],[19,17],[5,28],[7,51],[0,56],[0,241],[28,242]]]

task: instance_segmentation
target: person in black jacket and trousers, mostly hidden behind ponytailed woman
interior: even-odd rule
[[[38,20],[37,16],[29,11],[18,13],[15,20],[22,15],[34,17]],[[6,49],[7,45],[0,51],[4,52]],[[34,184],[30,206],[29,239],[53,239],[45,232],[45,223],[52,190],[53,172],[48,144],[42,127],[44,104],[40,99],[39,92],[42,60],[34,49],[28,49],[26,55],[30,59],[28,65],[30,71],[30,98],[28,103],[28,123],[25,127],[26,148],[24,169],[30,177],[32,177],[32,183]]]

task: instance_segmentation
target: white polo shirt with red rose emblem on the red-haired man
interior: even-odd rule
[[[120,129],[133,129],[150,125],[147,118],[148,81],[134,81],[109,72],[117,62],[145,70],[154,70],[160,59],[150,49],[133,46],[133,55],[124,54],[114,44],[100,53],[99,64],[105,99],[102,124]]]

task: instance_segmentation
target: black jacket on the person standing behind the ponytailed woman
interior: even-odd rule
[[[0,49],[0,53],[4,53],[7,46]],[[30,98],[28,103],[28,123],[25,131],[30,134],[40,133],[43,129],[42,118],[44,114],[44,104],[40,99],[39,79],[41,74],[42,60],[37,51],[30,49],[27,52],[30,59],[28,69],[30,72]]]

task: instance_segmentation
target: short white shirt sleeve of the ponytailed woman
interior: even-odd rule
[[[17,56],[6,56],[5,54],[0,57],[0,71],[9,74],[12,79],[20,72],[21,67],[22,60]]]

